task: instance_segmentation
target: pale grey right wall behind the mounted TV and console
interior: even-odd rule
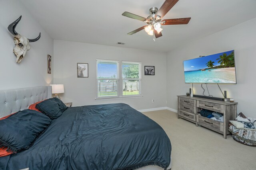
[[[238,113],[256,118],[256,18],[204,37],[167,53],[167,106],[177,109],[177,95],[186,95],[192,84],[184,83],[183,61],[200,55],[235,50],[237,84],[220,84],[229,98],[238,102]],[[194,84],[194,93],[202,95],[201,84]],[[209,84],[210,94],[223,97],[217,84]],[[206,91],[207,94],[207,91]]]

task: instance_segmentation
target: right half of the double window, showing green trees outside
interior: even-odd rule
[[[141,95],[141,63],[122,61],[122,96]]]

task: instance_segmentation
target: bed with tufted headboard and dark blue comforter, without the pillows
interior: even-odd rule
[[[48,98],[50,86],[2,91],[0,117]],[[0,157],[0,169],[170,169],[170,155],[168,136],[150,118],[127,104],[91,105],[66,109],[29,149]]]

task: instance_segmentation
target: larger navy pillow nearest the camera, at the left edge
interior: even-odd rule
[[[0,147],[14,153],[28,149],[51,122],[46,115],[30,109],[0,120]]]

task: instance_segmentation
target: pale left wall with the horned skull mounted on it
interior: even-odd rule
[[[30,50],[18,64],[12,52],[14,36],[7,27],[20,15],[22,19],[16,31],[30,39],[36,38],[41,32],[41,38],[30,43]],[[53,55],[53,39],[48,33],[18,0],[0,0],[0,90],[50,84],[53,70],[52,74],[47,74],[47,54]]]

